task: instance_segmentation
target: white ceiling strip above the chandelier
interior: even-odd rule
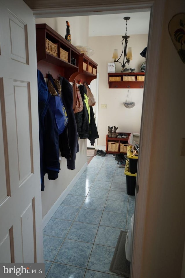
[[[125,35],[126,21],[123,17],[130,17],[127,21],[128,36],[148,34],[150,12],[132,12],[89,16],[89,36]]]

